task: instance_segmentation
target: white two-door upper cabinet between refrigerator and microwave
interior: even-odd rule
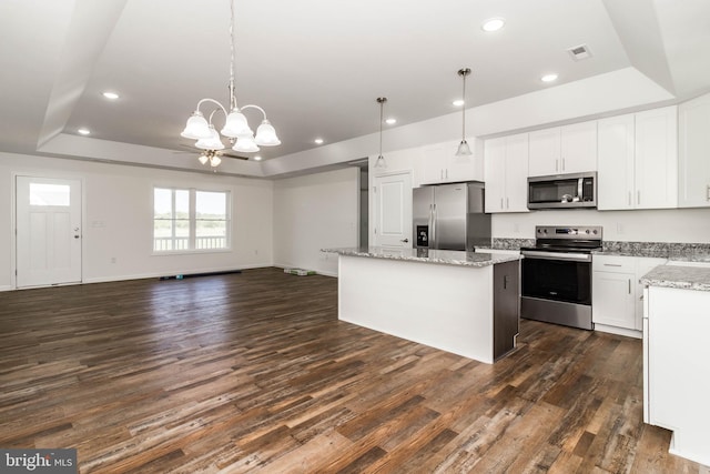
[[[528,135],[485,143],[486,212],[528,212]]]

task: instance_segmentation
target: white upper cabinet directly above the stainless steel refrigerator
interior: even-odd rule
[[[476,139],[468,140],[474,154],[456,157],[457,142],[437,143],[423,149],[422,184],[484,181],[484,159]]]

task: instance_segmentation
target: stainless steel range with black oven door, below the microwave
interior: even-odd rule
[[[535,246],[523,248],[520,316],[591,330],[591,252],[601,226],[535,228]]]

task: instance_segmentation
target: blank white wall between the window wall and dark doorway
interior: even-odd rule
[[[321,249],[357,245],[358,201],[358,168],[275,181],[275,265],[337,275],[337,255]]]

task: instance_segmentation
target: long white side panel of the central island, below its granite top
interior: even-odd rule
[[[496,359],[495,263],[449,265],[341,254],[338,265],[339,320],[485,363]],[[506,276],[506,285],[517,295],[517,258],[510,265],[515,276]],[[510,347],[517,314],[513,324]]]

